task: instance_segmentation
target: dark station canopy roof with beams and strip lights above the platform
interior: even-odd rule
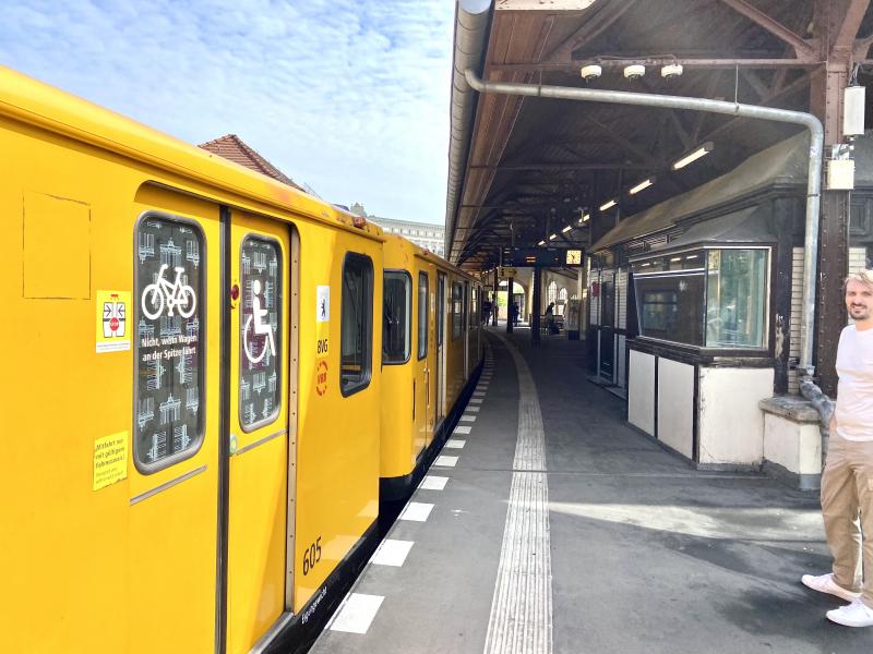
[[[816,84],[837,46],[873,63],[870,0],[499,0],[479,14],[465,11],[470,4],[459,3],[455,25],[446,202],[446,252],[468,269],[499,265],[507,245],[587,251],[629,217],[726,175],[801,128],[480,95],[464,81],[465,69],[486,82],[821,114]],[[870,81],[864,66],[860,76]],[[674,167],[698,152],[704,156]]]

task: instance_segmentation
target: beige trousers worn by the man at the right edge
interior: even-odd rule
[[[834,581],[861,591],[864,604],[873,608],[873,441],[846,440],[832,433],[822,473],[822,514],[834,555]]]

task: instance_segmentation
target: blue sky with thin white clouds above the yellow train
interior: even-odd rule
[[[452,0],[3,0],[0,63],[328,202],[442,223]]]

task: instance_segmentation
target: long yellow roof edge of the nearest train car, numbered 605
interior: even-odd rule
[[[168,134],[0,65],[0,116],[8,116],[208,186],[381,239],[372,222]],[[357,227],[360,226],[360,227]]]

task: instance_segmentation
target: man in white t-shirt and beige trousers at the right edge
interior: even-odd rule
[[[854,325],[839,336],[837,408],[830,419],[827,463],[822,473],[822,514],[834,571],[818,577],[804,574],[801,581],[850,602],[827,611],[829,620],[847,627],[872,627],[873,270],[849,275],[845,289],[846,307]],[[858,579],[859,558],[863,584]]]

